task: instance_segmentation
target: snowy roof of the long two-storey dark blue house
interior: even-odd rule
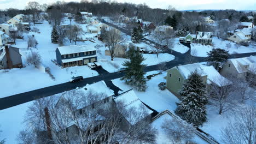
[[[95,44],[91,43],[88,45],[69,45],[69,46],[59,46],[61,55],[67,55],[71,53],[79,53],[79,52],[86,52],[86,51],[96,51]]]

